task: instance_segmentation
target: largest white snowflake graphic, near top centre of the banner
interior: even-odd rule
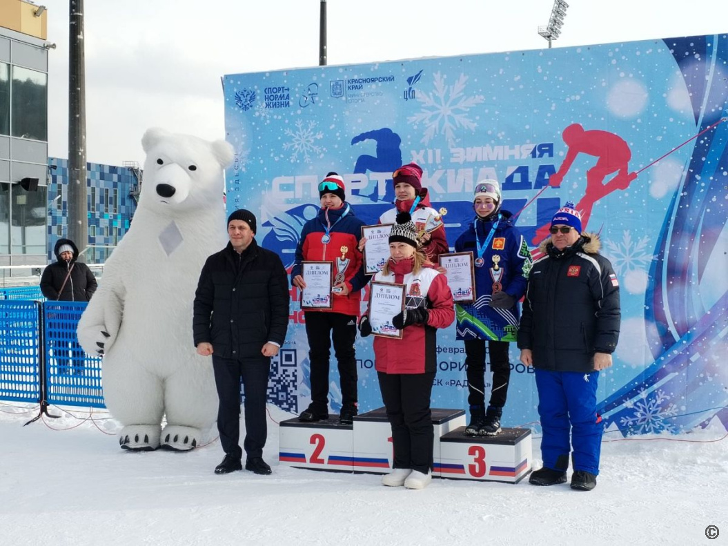
[[[455,130],[462,127],[471,131],[475,130],[477,124],[467,117],[470,108],[476,104],[483,103],[483,95],[464,95],[467,76],[460,74],[458,81],[451,86],[446,85],[447,76],[435,72],[434,92],[429,94],[417,91],[417,100],[422,105],[422,111],[414,116],[408,117],[408,122],[417,125],[423,123],[425,126],[422,143],[427,144],[436,135],[444,135],[449,146],[454,146],[457,139]]]

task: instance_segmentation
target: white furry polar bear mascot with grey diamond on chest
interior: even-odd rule
[[[227,241],[223,168],[233,150],[160,129],[148,130],[142,146],[139,205],[79,321],[79,342],[103,355],[103,393],[124,425],[122,448],[188,451],[218,408],[212,365],[192,342],[192,301],[205,259]]]

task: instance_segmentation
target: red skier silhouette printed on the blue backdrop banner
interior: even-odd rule
[[[586,228],[587,222],[599,199],[611,194],[617,189],[627,189],[630,183],[637,178],[637,173],[630,173],[628,162],[632,159],[630,147],[620,136],[612,132],[601,130],[585,131],[578,123],[566,127],[562,133],[563,141],[569,146],[566,157],[558,167],[558,171],[550,176],[549,186],[558,188],[563,177],[569,172],[578,154],[587,154],[597,157],[596,165],[587,170],[587,188],[581,200],[575,207],[582,214],[582,226]],[[612,174],[617,175],[607,183],[604,179]],[[534,245],[548,236],[549,224],[539,227],[532,240]]]

